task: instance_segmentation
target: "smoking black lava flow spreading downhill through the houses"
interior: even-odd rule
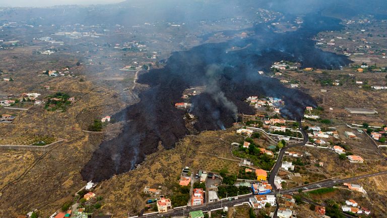
[[[85,180],[101,181],[132,170],[145,155],[157,150],[159,142],[166,149],[187,134],[182,119],[184,111],[174,107],[184,89],[206,86],[205,92],[191,98],[191,113],[202,130],[230,127],[238,113],[253,114],[243,100],[250,95],[279,97],[285,100],[282,115],[300,120],[305,106],[315,106],[307,94],[284,87],[275,78],[261,76],[273,62],[301,62],[303,67],[337,69],[350,61],[345,56],[315,48],[310,40],[319,31],[341,28],[338,20],[310,15],[298,31],[274,33],[264,25],[249,29],[244,39],[210,43],[190,50],[174,52],[163,69],[151,70],[138,82],[149,89],[139,93],[141,101],[128,106],[113,117],[127,121],[122,133],[104,141],[82,170]],[[248,45],[248,46],[247,46]],[[228,51],[237,46],[244,49]]]

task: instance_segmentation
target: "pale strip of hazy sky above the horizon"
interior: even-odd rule
[[[46,7],[54,5],[90,5],[123,2],[124,0],[0,0],[0,7]]]

